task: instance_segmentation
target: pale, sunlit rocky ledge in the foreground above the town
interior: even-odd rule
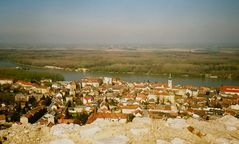
[[[136,118],[123,124],[95,121],[84,126],[58,124],[51,128],[27,124],[0,131],[0,139],[6,144],[220,144],[239,143],[238,138],[239,120],[232,116],[210,121]]]

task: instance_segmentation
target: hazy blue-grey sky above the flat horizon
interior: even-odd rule
[[[1,0],[0,43],[239,43],[239,0]]]

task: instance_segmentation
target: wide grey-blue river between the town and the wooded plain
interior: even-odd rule
[[[0,60],[0,67],[17,67],[22,65],[15,64],[8,61]],[[29,67],[29,66],[28,66]],[[117,74],[117,73],[99,73],[99,72],[71,72],[65,70],[56,69],[46,69],[46,68],[35,68],[29,67],[30,71],[46,71],[51,73],[60,73],[64,76],[65,80],[80,80],[88,76],[108,76],[108,77],[118,77],[125,81],[135,81],[135,82],[159,82],[167,83],[168,76],[165,75],[142,75],[142,74]],[[172,78],[174,85],[195,85],[195,86],[220,86],[220,85],[239,85],[239,79],[210,79],[210,78],[200,78],[200,77],[183,77],[177,76]]]

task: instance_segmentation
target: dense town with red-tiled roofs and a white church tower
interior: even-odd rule
[[[0,79],[1,129],[11,124],[91,124],[151,119],[211,120],[239,118],[239,86],[204,87],[168,83],[126,82],[111,77],[80,81]]]

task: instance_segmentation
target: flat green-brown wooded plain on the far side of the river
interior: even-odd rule
[[[3,59],[34,66],[87,68],[90,71],[174,75],[205,74],[239,78],[239,50],[220,49],[0,49]]]

